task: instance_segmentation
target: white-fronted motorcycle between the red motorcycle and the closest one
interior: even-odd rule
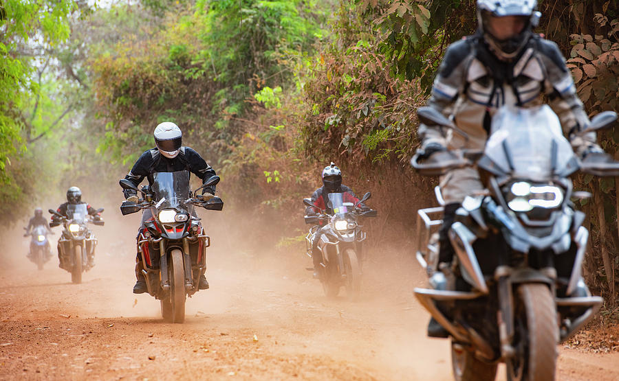
[[[359,203],[370,197],[371,193],[367,192]],[[315,207],[309,198],[303,203]],[[338,296],[340,288],[345,286],[349,299],[356,299],[361,290],[361,244],[367,235],[362,230],[360,218],[376,217],[377,212],[358,211],[355,207],[354,203],[344,202],[343,193],[329,193],[327,211],[321,211],[319,216],[305,216],[305,224],[314,225],[305,237],[308,256],[312,257],[312,242],[316,234],[322,232],[318,250],[323,254],[321,283],[327,297]],[[330,214],[329,210],[333,213]]]

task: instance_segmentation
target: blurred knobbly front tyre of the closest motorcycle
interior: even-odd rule
[[[554,380],[558,327],[554,298],[545,284],[521,284],[514,298],[514,348],[506,361],[510,381]]]

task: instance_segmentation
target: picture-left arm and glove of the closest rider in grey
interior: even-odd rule
[[[447,48],[432,86],[428,106],[435,108],[446,117],[453,113],[453,106],[466,86],[466,68],[472,53],[471,44],[466,40],[457,41]],[[439,126],[420,124],[418,134],[422,148],[431,144],[447,147],[445,130]]]

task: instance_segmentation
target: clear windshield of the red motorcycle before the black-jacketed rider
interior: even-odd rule
[[[157,209],[188,210],[185,205],[190,192],[188,171],[156,172],[152,189]]]

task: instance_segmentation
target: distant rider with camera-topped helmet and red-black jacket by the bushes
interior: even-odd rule
[[[329,214],[332,214],[333,211],[327,206],[329,193],[343,193],[345,203],[354,203],[356,208],[362,211],[369,210],[369,207],[365,206],[363,203],[359,203],[360,200],[355,196],[352,189],[346,185],[342,185],[342,171],[340,171],[340,168],[336,167],[333,161],[323,169],[321,178],[323,180],[323,186],[316,189],[312,194],[311,201],[314,207],[305,208],[306,216],[316,216],[321,210],[326,210]],[[318,249],[318,240],[321,239],[321,236],[325,233],[325,228],[327,228],[327,226],[323,226],[325,221],[321,220],[319,224],[321,229],[316,231],[316,235],[314,235],[314,240],[312,241],[312,262],[314,262],[314,278],[316,279],[320,279],[323,268],[323,266],[321,266],[321,262],[323,262],[323,253]]]

